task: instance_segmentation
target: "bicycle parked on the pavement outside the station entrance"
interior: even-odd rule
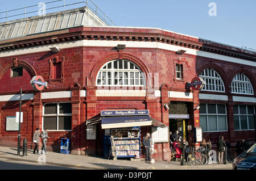
[[[199,147],[197,149],[191,148],[192,153],[188,155],[187,162],[189,165],[196,165],[196,163],[200,163],[201,165],[207,164],[207,156],[203,154],[203,147]]]

